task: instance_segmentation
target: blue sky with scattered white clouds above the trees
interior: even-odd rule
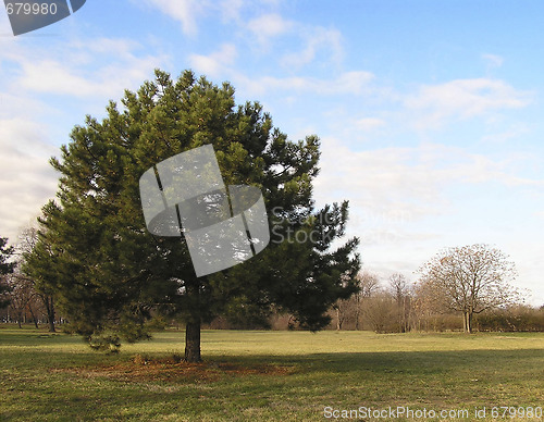
[[[0,10],[0,235],[15,239],[85,114],[154,67],[231,82],[296,140],[322,139],[318,204],[384,280],[485,243],[544,303],[544,2],[87,0],[13,37]]]

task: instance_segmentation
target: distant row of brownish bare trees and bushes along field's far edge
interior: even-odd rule
[[[63,324],[66,320],[55,309],[52,299],[34,289],[25,277],[11,277],[12,289],[8,301],[0,309],[0,322]],[[349,299],[337,301],[330,311],[331,323],[326,330],[373,331],[376,333],[463,331],[462,315],[430,300],[426,290],[409,284],[400,274],[393,274],[384,284],[375,274],[359,276],[360,290]],[[50,303],[51,307],[47,307]],[[54,312],[54,325],[48,318]],[[156,318],[154,328],[183,327],[175,321]],[[69,327],[70,324],[66,325]],[[233,308],[224,316],[205,324],[212,330],[299,330],[293,315],[276,310],[271,314],[254,314],[248,309]],[[490,309],[474,315],[473,330],[479,332],[544,332],[544,306],[523,305]]]

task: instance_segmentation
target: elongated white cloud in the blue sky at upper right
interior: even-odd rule
[[[423,85],[404,100],[417,113],[417,128],[436,128],[448,120],[470,119],[485,113],[520,109],[531,102],[531,92],[520,91],[499,79],[455,79]]]

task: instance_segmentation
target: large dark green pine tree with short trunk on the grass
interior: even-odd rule
[[[122,104],[110,102],[101,122],[87,116],[51,160],[61,173],[58,198],[44,207],[38,245],[26,257],[73,330],[115,350],[120,337],[146,337],[152,314],[180,318],[185,359],[199,361],[201,323],[240,307],[265,315],[274,306],[305,328],[325,326],[329,307],[357,289],[359,258],[357,238],[331,249],[344,235],[347,202],[314,209],[319,139],[289,141],[259,103],[236,107],[231,85],[189,71],[178,79],[156,71]],[[158,162],[208,144],[226,185],[261,189],[272,238],[250,260],[197,277],[183,238],[147,231],[138,181]]]

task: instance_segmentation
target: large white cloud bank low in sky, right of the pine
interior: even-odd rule
[[[323,138],[321,150],[317,204],[349,199],[347,235],[360,238],[367,268],[385,275],[401,271],[413,277],[410,273],[444,246],[491,239],[514,248],[520,274],[537,280],[533,275],[542,265],[527,258],[536,257],[535,251],[542,249],[536,248],[540,228],[528,223],[532,231],[528,233],[519,215],[511,214],[515,207],[503,210],[511,198],[494,189],[487,194],[486,185],[482,186],[498,183],[506,189],[498,191],[516,194],[517,184],[540,184],[542,191],[544,181],[520,177],[509,159],[494,161],[433,144],[360,151],[335,138]],[[519,248],[512,246],[516,241]],[[534,245],[526,246],[528,241]],[[534,287],[530,282],[526,286]],[[542,288],[533,291],[542,298]]]

